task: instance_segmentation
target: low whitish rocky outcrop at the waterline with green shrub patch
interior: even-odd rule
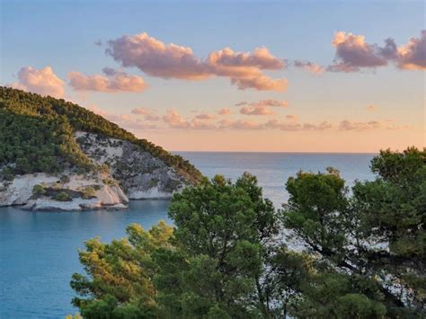
[[[128,202],[108,173],[90,177],[67,172],[61,176],[35,173],[0,182],[0,206],[23,205],[31,210],[124,209]]]

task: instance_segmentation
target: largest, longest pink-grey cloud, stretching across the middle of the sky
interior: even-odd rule
[[[284,91],[286,79],[271,79],[263,70],[280,70],[284,62],[271,55],[267,48],[253,52],[235,52],[225,48],[213,51],[208,58],[195,56],[192,49],[149,37],[146,32],[124,35],[108,41],[106,54],[121,66],[136,66],[147,75],[164,79],[205,80],[212,76],[228,77],[238,89]]]

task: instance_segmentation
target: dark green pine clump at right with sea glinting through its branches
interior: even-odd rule
[[[352,197],[335,170],[288,180],[284,224],[326,266],[301,288],[311,311],[298,315],[426,311],[425,151],[383,151],[371,167],[377,179],[357,182]]]

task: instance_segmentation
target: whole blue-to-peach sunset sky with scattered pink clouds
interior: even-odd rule
[[[423,1],[1,0],[0,84],[171,151],[425,146]]]

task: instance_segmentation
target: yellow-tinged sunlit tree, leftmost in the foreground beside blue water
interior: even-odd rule
[[[100,238],[85,243],[80,262],[89,276],[74,274],[71,287],[79,297],[73,304],[84,318],[152,318],[155,315],[155,263],[151,253],[168,247],[173,228],[160,221],[146,232],[127,227],[128,238],[102,244]]]

